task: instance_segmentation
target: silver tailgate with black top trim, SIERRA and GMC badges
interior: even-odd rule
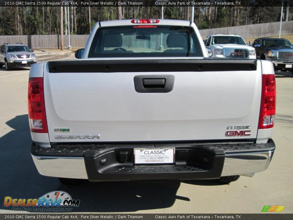
[[[49,140],[254,139],[261,80],[257,60],[52,61],[44,68]]]

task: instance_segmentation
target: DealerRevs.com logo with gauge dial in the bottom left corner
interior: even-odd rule
[[[4,206],[12,207],[12,211],[72,211],[72,207],[78,207],[80,200],[73,200],[63,191],[52,191],[38,199],[13,199],[4,197]]]

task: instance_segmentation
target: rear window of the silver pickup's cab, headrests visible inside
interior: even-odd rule
[[[133,25],[98,28],[88,57],[202,56],[193,28]]]

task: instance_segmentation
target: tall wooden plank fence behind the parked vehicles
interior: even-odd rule
[[[244,39],[259,38],[259,37],[272,37],[279,35],[280,22],[264,23],[264,24],[251,24],[243,26],[235,26],[228,28],[213,28],[200,30],[201,36],[206,37],[210,34],[237,34]],[[281,35],[293,35],[293,21],[282,22]],[[132,36],[133,37],[133,36]],[[70,44],[72,48],[84,48],[89,35],[70,35]],[[156,36],[160,38],[160,36]],[[123,46],[127,48],[132,44],[133,39],[127,37],[127,43],[124,42]],[[150,48],[157,48],[160,39],[151,39]],[[154,41],[156,42],[154,44]],[[60,49],[60,35],[21,35],[21,36],[0,36],[0,45],[2,43],[23,43],[31,49]],[[68,35],[63,35],[63,46],[67,48]],[[142,46],[146,46],[143,45]],[[163,39],[163,46],[165,46],[165,37]]]

